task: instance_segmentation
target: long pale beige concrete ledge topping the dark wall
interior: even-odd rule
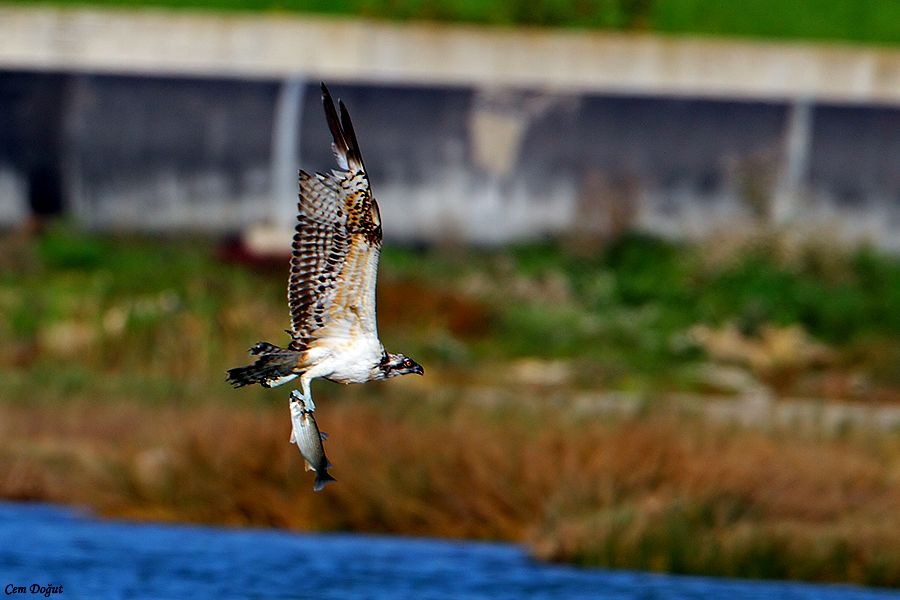
[[[0,68],[900,104],[900,51],[286,14],[0,6]]]

